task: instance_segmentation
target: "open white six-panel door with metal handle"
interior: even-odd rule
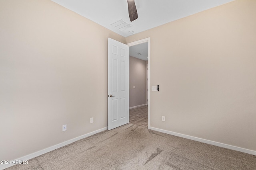
[[[129,123],[128,46],[108,38],[108,130]]]

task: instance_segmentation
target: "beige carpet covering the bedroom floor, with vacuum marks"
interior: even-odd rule
[[[8,170],[252,170],[254,155],[127,124]]]

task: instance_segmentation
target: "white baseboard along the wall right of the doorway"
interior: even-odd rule
[[[148,129],[151,129],[151,130],[154,130],[154,131],[158,131],[158,132],[162,132],[162,133],[167,133],[169,135],[183,137],[183,138],[186,138],[186,139],[191,139],[193,141],[198,141],[198,142],[207,143],[207,144],[210,144],[210,145],[215,145],[215,146],[226,148],[226,149],[232,149],[232,150],[236,150],[236,151],[240,151],[240,152],[256,155],[256,150],[250,150],[250,149],[244,149],[244,148],[240,148],[240,147],[235,147],[235,146],[232,146],[232,145],[227,145],[227,144],[224,144],[224,143],[209,141],[209,140],[206,140],[206,139],[202,139],[202,138],[198,138],[198,137],[192,137],[192,136],[184,135],[184,134],[181,134],[181,133],[176,133],[176,132],[172,132],[172,131],[166,131],[164,129],[158,129],[158,128],[155,128],[155,127],[148,127]]]

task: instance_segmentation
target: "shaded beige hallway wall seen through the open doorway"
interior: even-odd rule
[[[129,107],[146,104],[146,61],[132,56],[130,56],[129,93]]]

